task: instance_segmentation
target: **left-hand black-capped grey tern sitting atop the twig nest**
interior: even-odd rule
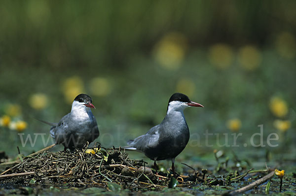
[[[55,139],[56,144],[64,145],[64,151],[82,149],[87,142],[91,143],[100,135],[97,121],[90,108],[95,109],[92,98],[86,94],[80,94],[74,99],[71,112],[59,123],[42,120],[41,122],[52,126],[50,135]]]

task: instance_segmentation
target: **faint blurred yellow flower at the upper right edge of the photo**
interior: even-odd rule
[[[286,59],[296,56],[296,39],[292,33],[280,33],[276,39],[276,49],[279,55]]]

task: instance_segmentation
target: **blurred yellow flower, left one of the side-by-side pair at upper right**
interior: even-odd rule
[[[233,61],[233,52],[227,44],[219,43],[210,48],[210,62],[220,69],[229,67]]]

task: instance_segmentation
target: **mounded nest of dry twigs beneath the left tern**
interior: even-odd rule
[[[168,185],[169,173],[166,176],[156,175],[144,161],[131,160],[121,150],[103,149],[100,146],[91,149],[94,154],[80,149],[73,152],[44,151],[13,166],[5,173],[12,177],[1,180],[59,187],[107,187],[108,183],[116,183],[123,188],[138,189]]]

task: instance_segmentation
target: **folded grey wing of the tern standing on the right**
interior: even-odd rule
[[[159,142],[160,126],[156,125],[152,127],[146,134],[141,135],[130,141],[128,144],[137,148],[137,150],[145,152],[146,148],[154,147]]]

